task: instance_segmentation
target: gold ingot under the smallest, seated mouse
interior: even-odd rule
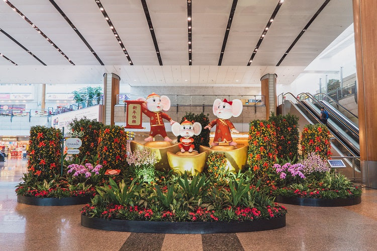
[[[169,166],[173,173],[175,174],[187,174],[191,176],[196,176],[203,172],[204,166],[206,165],[207,153],[198,152],[177,152],[176,154],[167,152],[167,159],[169,161]]]

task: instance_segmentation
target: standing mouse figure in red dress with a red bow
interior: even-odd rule
[[[232,133],[239,133],[233,126],[233,123],[229,120],[232,116],[238,117],[242,112],[242,101],[239,99],[233,99],[228,101],[224,98],[223,101],[216,99],[213,103],[213,114],[217,116],[217,119],[211,121],[204,129],[211,130],[214,126],[217,126],[215,131],[215,138],[212,143],[213,146],[219,145],[219,143],[227,142],[230,146],[237,146],[237,143],[233,141]]]

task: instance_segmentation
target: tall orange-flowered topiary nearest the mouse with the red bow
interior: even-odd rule
[[[257,175],[266,173],[276,160],[276,132],[267,120],[253,120],[249,125],[247,164]]]

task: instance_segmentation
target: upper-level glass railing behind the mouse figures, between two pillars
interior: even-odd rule
[[[181,105],[213,105],[216,98],[221,100],[226,98],[231,101],[233,99],[240,99],[243,105],[263,106],[264,95],[166,95],[170,99],[172,106]],[[145,97],[137,94],[119,94],[117,95],[117,104],[124,104],[125,100],[135,100],[138,97]]]

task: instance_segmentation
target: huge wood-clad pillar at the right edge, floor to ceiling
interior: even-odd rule
[[[377,188],[377,5],[353,0],[362,183]]]

